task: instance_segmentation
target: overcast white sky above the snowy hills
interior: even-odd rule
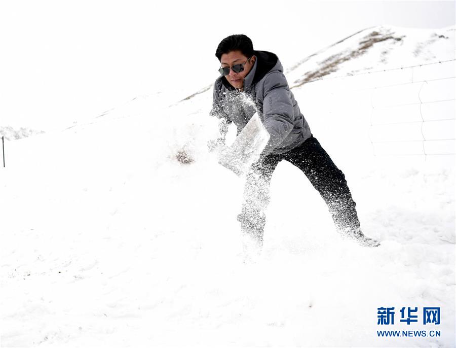
[[[286,67],[366,27],[441,28],[454,1],[6,1],[0,126],[49,129],[136,95],[218,76],[215,49],[245,33]]]

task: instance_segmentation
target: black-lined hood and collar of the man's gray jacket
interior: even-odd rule
[[[274,53],[268,51],[253,51],[253,55],[256,56],[255,63],[253,64],[251,71],[244,79],[244,90],[247,90],[252,85],[255,85],[269,72],[277,70],[283,73],[282,63]],[[224,76],[221,80],[226,89],[235,89],[232,85],[230,85]]]

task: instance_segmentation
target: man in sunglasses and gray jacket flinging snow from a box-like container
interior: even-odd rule
[[[224,145],[228,126],[234,122],[239,134],[255,112],[271,135],[259,160],[247,173],[238,215],[244,235],[261,248],[271,177],[284,159],[301,169],[318,190],[339,233],[362,246],[379,246],[378,241],[361,232],[356,203],[344,173],[312,135],[288,87],[278,57],[271,52],[254,51],[252,41],[243,34],[223,39],[215,56],[221,63],[221,76],[214,84],[210,115],[220,120],[220,137],[208,145]]]

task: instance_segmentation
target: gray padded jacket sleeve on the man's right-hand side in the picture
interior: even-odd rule
[[[283,73],[275,71],[269,74],[263,88],[263,125],[271,138],[261,153],[262,157],[280,145],[294,127],[293,103]]]

